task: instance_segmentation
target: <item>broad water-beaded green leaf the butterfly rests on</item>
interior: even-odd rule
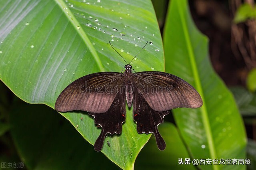
[[[109,40],[127,62],[146,41],[152,42],[134,59],[133,68],[163,71],[161,35],[150,0],[0,0],[0,79],[28,103],[53,108],[75,79],[99,71],[121,72],[125,63]],[[91,117],[62,115],[94,144],[100,129]],[[137,133],[127,109],[122,134],[108,136],[102,152],[131,169],[150,136]]]

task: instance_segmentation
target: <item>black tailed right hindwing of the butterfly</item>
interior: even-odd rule
[[[142,94],[139,93],[137,88],[134,88],[133,96],[133,117],[134,121],[137,123],[138,133],[154,133],[158,148],[164,150],[166,144],[158,132],[157,126],[164,122],[164,116],[167,115],[169,111],[154,111],[148,105]]]

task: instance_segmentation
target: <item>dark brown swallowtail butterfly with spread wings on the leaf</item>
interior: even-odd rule
[[[124,68],[124,73],[93,73],[77,79],[60,93],[55,109],[92,115],[95,124],[102,127],[94,144],[94,149],[100,151],[107,133],[122,132],[126,99],[128,107],[133,103],[138,133],[154,133],[158,148],[164,150],[166,144],[157,128],[164,116],[178,107],[201,107],[202,99],[190,84],[175,75],[158,71],[132,73],[130,63]]]

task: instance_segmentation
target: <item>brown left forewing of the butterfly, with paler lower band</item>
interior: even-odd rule
[[[73,110],[105,113],[120,91],[124,74],[101,72],[86,75],[72,82],[60,93],[55,109],[66,112]]]

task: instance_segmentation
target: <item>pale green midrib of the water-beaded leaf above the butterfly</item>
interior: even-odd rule
[[[78,32],[84,43],[87,45],[88,49],[92,53],[92,56],[94,57],[100,71],[105,71],[102,62],[100,60],[100,57],[98,56],[97,51],[93,47],[92,43],[90,42],[88,36],[80,26],[79,22],[76,20],[75,16],[72,14],[68,6],[65,4],[63,0],[55,0],[55,2],[60,6],[63,13],[67,16],[67,19],[70,21],[70,23],[74,26],[74,29]],[[79,29],[78,29],[79,28]]]

